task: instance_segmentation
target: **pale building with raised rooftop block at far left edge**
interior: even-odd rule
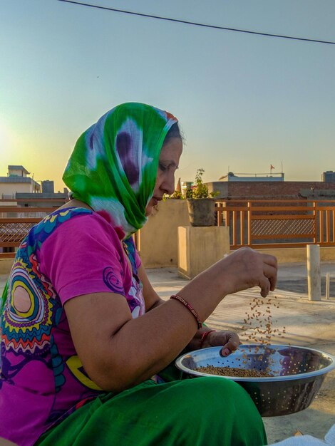
[[[41,185],[27,175],[30,172],[24,166],[9,165],[8,175],[0,177],[0,198],[13,199],[17,192],[41,192]]]

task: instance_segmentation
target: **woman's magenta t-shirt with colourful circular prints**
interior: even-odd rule
[[[0,437],[33,445],[38,437],[103,391],[76,355],[63,304],[76,296],[125,296],[133,318],[145,313],[140,259],[98,213],[53,212],[16,253],[1,314]],[[110,299],[113,299],[111,296]]]

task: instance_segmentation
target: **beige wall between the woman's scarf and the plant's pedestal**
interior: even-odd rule
[[[158,211],[135,237],[145,268],[177,266],[178,226],[190,226],[186,200],[160,202]]]

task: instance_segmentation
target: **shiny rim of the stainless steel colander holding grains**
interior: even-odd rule
[[[283,375],[283,376],[269,376],[269,377],[244,377],[244,376],[222,376],[222,375],[212,375],[210,373],[203,373],[198,372],[197,370],[192,370],[190,368],[185,367],[185,365],[182,364],[182,361],[186,357],[193,356],[196,353],[204,353],[205,351],[208,352],[217,352],[219,355],[220,350],[222,347],[208,347],[208,348],[202,348],[201,350],[195,350],[190,351],[188,353],[185,353],[184,355],[180,356],[175,360],[175,365],[177,368],[182,370],[185,373],[188,373],[189,375],[195,375],[195,376],[215,376],[218,378],[226,378],[234,381],[244,381],[244,382],[272,382],[272,381],[289,381],[289,380],[299,380],[299,379],[308,379],[308,378],[315,378],[318,375],[324,375],[325,373],[330,372],[335,368],[335,356],[331,355],[330,353],[326,353],[321,350],[316,350],[316,348],[309,348],[308,346],[289,346],[289,345],[280,345],[280,344],[271,344],[271,345],[265,345],[265,344],[242,344],[239,346],[239,349],[241,348],[251,348],[251,347],[259,347],[259,348],[297,348],[299,350],[309,350],[311,352],[320,353],[321,355],[326,356],[327,358],[331,359],[331,364],[327,365],[324,368],[321,368],[320,370],[314,370],[312,372],[306,372],[306,373],[296,373],[295,375]],[[233,353],[232,353],[233,354]]]

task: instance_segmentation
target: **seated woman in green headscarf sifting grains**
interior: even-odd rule
[[[1,317],[0,435],[18,445],[265,445],[249,395],[222,378],[180,380],[185,349],[238,336],[202,326],[227,295],[274,289],[272,256],[241,249],[161,300],[131,234],[174,191],[177,120],[126,103],[78,139],[71,200],[16,254]]]

